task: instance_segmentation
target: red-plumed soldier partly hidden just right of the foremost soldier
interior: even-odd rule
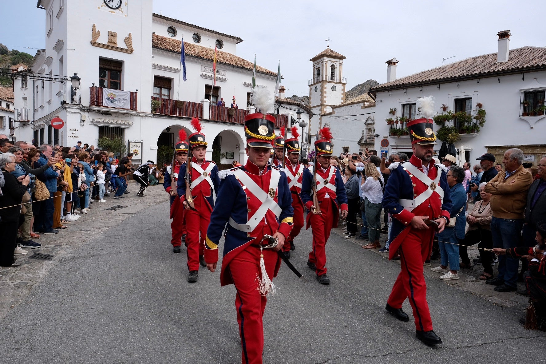
[[[298,236],[301,228],[304,227],[304,203],[301,200],[301,181],[303,179],[305,166],[299,163],[301,148],[298,144],[298,127],[290,129],[292,138],[286,140],[286,151],[288,156],[284,164],[284,173],[288,178],[288,187],[292,193],[292,207],[294,208],[294,227],[290,235],[286,238],[282,248],[284,255],[290,258],[290,250],[294,250],[294,238]]]

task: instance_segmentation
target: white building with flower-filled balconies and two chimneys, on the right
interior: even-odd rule
[[[470,114],[470,117],[448,117],[449,120],[435,124],[434,132],[440,140],[436,151],[440,150],[442,140],[449,139],[457,150],[465,149],[467,161],[476,164],[476,158],[484,153],[494,154],[497,162],[501,162],[508,148],[518,147],[524,151],[526,160],[536,166],[546,154],[543,140],[546,48],[528,46],[509,50],[510,32],[497,35],[497,53],[467,58],[400,79],[396,79],[398,61],[394,58],[387,61],[388,82],[370,89],[371,96],[376,98],[376,133],[380,135],[375,148],[412,154],[406,118],[416,117],[415,104],[419,98],[434,96],[438,114],[450,111]],[[389,125],[385,120],[390,119],[393,121]],[[480,126],[483,120],[485,123]]]

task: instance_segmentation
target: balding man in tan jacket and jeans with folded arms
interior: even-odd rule
[[[506,151],[502,163],[505,169],[485,185],[485,192],[492,194],[491,235],[495,248],[515,248],[518,246],[523,226],[527,190],[532,176],[523,168],[523,151],[512,148]],[[506,255],[498,258],[498,276],[485,281],[496,285],[496,291],[508,292],[518,289],[519,260]]]

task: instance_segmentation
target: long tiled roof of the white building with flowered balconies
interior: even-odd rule
[[[370,92],[403,86],[417,86],[421,83],[452,82],[457,79],[491,77],[498,73],[546,68],[546,47],[525,46],[509,51],[508,61],[497,63],[497,53],[463,59],[459,62],[432,68],[391,82],[370,88]]]

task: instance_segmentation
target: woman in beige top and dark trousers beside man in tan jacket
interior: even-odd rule
[[[483,264],[483,273],[479,279],[482,281],[486,281],[493,277],[493,268],[491,267],[493,254],[489,251],[493,248],[493,240],[491,237],[492,212],[491,206],[489,205],[491,194],[485,192],[486,184],[487,183],[484,182],[479,185],[479,194],[482,199],[474,204],[474,208],[472,208],[472,211],[466,217],[468,229],[466,230],[465,238],[461,241],[461,246],[459,247],[461,268],[470,268],[472,267],[472,264],[468,258],[466,247],[479,243],[478,249],[480,249],[480,259]]]

